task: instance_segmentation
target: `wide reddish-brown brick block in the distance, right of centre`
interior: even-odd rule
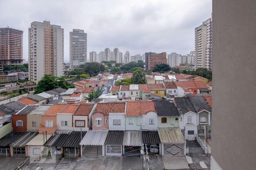
[[[153,70],[155,65],[160,63],[167,64],[166,52],[159,53],[159,54],[149,54],[147,56],[147,68],[148,70]]]

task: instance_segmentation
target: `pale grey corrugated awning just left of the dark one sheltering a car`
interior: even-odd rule
[[[123,136],[124,146],[142,146],[141,131],[125,131]]]

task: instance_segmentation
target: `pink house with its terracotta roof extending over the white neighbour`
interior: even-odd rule
[[[98,103],[92,116],[93,130],[109,129],[109,113],[124,113],[125,102]]]

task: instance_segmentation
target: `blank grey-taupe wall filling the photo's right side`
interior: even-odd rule
[[[213,1],[212,169],[256,167],[255,7]]]

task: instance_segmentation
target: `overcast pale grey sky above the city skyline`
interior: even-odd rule
[[[131,56],[144,52],[194,50],[194,29],[212,13],[211,0],[0,0],[0,27],[24,31],[23,56],[28,56],[28,27],[49,20],[64,28],[64,58],[69,61],[69,32],[84,29],[89,52],[119,48]]]

